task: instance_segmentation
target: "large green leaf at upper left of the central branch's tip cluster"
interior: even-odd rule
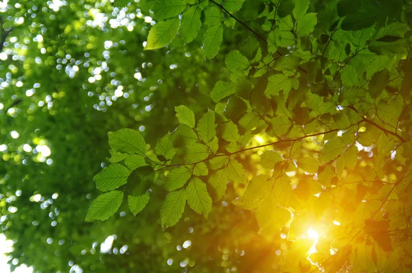
[[[117,152],[128,154],[145,154],[146,142],[137,130],[120,129],[116,132],[108,132],[108,144]]]

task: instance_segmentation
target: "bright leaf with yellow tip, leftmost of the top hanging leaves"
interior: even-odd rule
[[[148,43],[144,50],[158,49],[168,45],[176,37],[177,32],[179,32],[179,26],[179,17],[156,23],[150,29]]]

